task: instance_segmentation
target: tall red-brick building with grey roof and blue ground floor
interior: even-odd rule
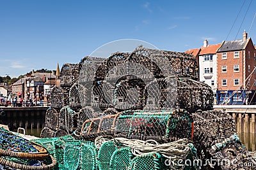
[[[217,51],[217,104],[255,103],[255,47],[247,33],[243,39],[223,41]]]

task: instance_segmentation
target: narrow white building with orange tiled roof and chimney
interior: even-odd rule
[[[214,104],[216,102],[217,90],[217,50],[221,44],[208,45],[207,39],[199,53],[199,81],[206,83],[214,93]]]

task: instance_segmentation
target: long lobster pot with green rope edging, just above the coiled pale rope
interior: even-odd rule
[[[115,136],[129,139],[154,139],[159,143],[193,138],[193,118],[184,110],[145,112],[120,115]]]

